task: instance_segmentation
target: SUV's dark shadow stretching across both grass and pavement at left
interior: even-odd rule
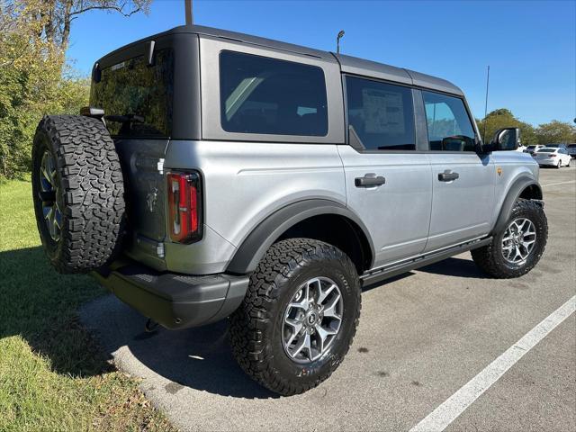
[[[238,397],[273,398],[233,359],[225,321],[154,333],[146,319],[86,275],[58,275],[41,247],[0,252],[0,338],[20,335],[58,374],[91,376],[115,370],[110,360],[141,363],[168,380],[168,393],[191,387]],[[78,315],[79,311],[79,315]],[[94,338],[94,333],[97,338]],[[128,362],[128,363],[127,363]]]

